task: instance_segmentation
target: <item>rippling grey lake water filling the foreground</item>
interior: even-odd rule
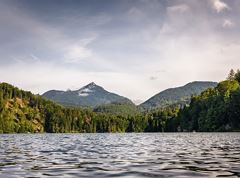
[[[0,135],[7,177],[240,177],[240,133]]]

